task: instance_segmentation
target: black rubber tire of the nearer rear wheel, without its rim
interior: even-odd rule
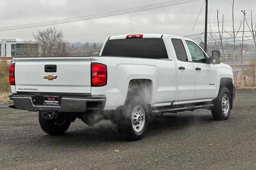
[[[142,126],[141,130],[139,132],[136,132],[133,128],[133,110],[136,106],[140,106],[140,111],[144,110],[144,118],[141,117],[141,119],[138,118],[138,120],[144,119],[144,126]],[[137,107],[138,108],[138,107]],[[130,99],[128,99],[121,112],[120,121],[117,123],[118,132],[120,133],[120,136],[124,140],[134,141],[134,140],[140,140],[144,134],[146,133],[147,127],[148,127],[148,107],[146,105],[146,102],[141,99],[139,96],[133,96]],[[143,121],[143,120],[142,120]]]

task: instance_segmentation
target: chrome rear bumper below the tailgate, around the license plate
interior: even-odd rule
[[[46,94],[48,95],[48,94]],[[58,111],[84,113],[88,110],[103,110],[106,103],[106,97],[92,96],[65,96],[58,95],[60,98],[59,106],[48,106],[42,104],[40,99],[42,94],[12,94],[9,99],[13,100],[14,105],[9,107],[26,111]]]

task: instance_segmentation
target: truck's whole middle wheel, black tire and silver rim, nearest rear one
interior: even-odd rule
[[[125,140],[139,140],[148,127],[148,107],[143,99],[134,96],[125,102],[121,112],[118,131]]]

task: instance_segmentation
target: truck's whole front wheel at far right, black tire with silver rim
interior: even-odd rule
[[[219,121],[228,119],[231,111],[231,102],[231,96],[228,88],[220,87],[218,97],[214,100],[212,117]]]

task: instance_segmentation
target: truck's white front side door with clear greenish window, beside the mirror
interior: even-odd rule
[[[195,71],[194,99],[210,99],[216,92],[216,69],[214,65],[206,63],[207,55],[194,42],[185,40]]]

